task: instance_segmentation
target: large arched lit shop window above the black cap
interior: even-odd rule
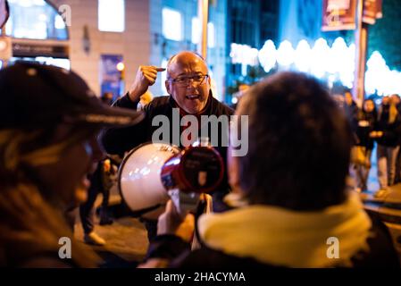
[[[54,4],[45,0],[9,0],[5,33],[12,38],[13,64],[18,60],[71,68],[69,31]]]

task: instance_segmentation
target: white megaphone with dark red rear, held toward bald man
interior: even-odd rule
[[[180,150],[165,143],[145,143],[132,149],[121,163],[118,186],[133,212],[156,219],[169,199],[180,214],[193,210],[201,193],[219,187],[224,173],[221,155],[197,141]],[[159,209],[155,212],[155,209]]]

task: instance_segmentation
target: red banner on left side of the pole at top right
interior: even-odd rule
[[[324,0],[322,30],[355,29],[357,0]]]

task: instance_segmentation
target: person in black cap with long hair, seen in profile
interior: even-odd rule
[[[86,198],[103,156],[97,132],[143,114],[104,105],[75,72],[37,63],[1,70],[0,97],[0,266],[96,266],[63,212]]]

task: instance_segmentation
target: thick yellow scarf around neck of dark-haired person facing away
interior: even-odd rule
[[[352,266],[350,258],[369,251],[372,223],[360,199],[322,211],[297,212],[276,206],[243,206],[221,214],[203,214],[200,237],[210,248],[236,257],[287,267]],[[339,257],[328,256],[338,239]]]

